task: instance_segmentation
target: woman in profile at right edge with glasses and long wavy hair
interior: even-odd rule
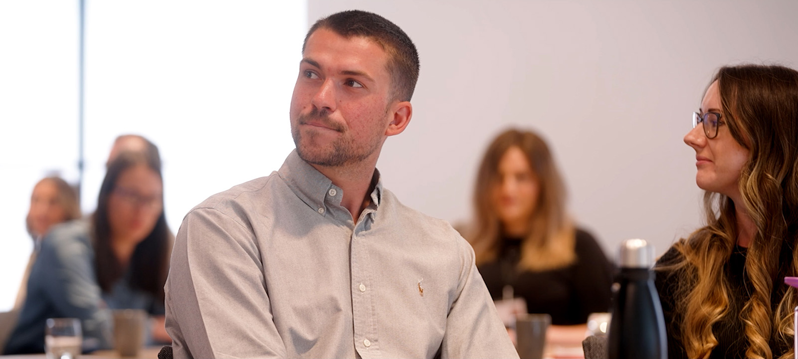
[[[705,227],[659,259],[670,357],[792,357],[798,72],[722,67],[693,115]]]

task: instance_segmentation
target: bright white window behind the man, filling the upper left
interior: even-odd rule
[[[85,214],[120,134],[160,148],[173,232],[203,199],[269,175],[294,148],[288,109],[305,2],[87,1],[85,19]],[[34,183],[49,172],[77,180],[78,24],[77,1],[0,2],[0,52],[13,54],[0,57],[9,248],[0,310],[13,304],[30,253]]]

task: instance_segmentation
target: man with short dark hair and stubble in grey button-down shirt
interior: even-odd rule
[[[418,54],[392,22],[311,27],[290,106],[296,150],[186,215],[166,284],[175,357],[518,357],[448,223],[382,187]]]

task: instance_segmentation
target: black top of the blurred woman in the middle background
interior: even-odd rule
[[[553,325],[584,324],[589,314],[610,311],[613,266],[587,231],[576,231],[574,263],[539,272],[518,270],[520,239],[500,241],[498,260],[477,266],[494,300],[510,285],[529,313],[550,314]]]

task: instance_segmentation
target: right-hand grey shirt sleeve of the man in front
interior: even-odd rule
[[[517,358],[516,348],[496,313],[480,272],[476,270],[471,245],[460,238],[459,250],[459,294],[452,302],[446,318],[440,357]]]

